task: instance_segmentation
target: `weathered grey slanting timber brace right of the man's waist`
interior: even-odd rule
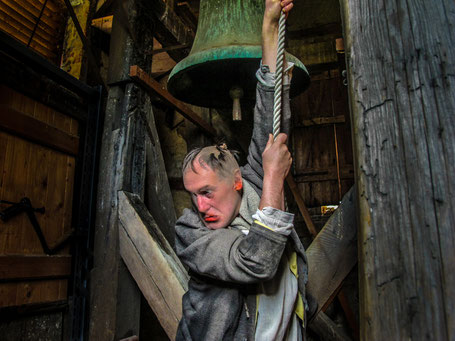
[[[357,263],[355,190],[345,194],[306,251],[308,293],[318,302],[319,312]],[[316,313],[317,314],[317,313]]]

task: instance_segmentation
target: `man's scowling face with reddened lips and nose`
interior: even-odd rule
[[[202,167],[198,158],[193,165],[196,172],[188,168],[183,175],[183,183],[205,226],[212,230],[227,227],[239,213],[242,199],[235,189],[236,177],[222,179],[209,166]],[[241,181],[240,173],[238,181]]]

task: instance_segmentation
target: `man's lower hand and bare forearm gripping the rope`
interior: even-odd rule
[[[262,153],[264,180],[259,209],[270,206],[284,210],[284,180],[292,164],[291,153],[286,145],[287,138],[286,134],[281,133],[274,141],[273,135],[269,135]]]

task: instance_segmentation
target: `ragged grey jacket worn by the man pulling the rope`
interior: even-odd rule
[[[273,76],[267,66],[257,73],[253,136],[241,168],[248,188],[259,197],[262,152],[272,132]],[[289,133],[289,85],[283,95],[282,131]],[[254,340],[256,285],[273,278],[287,243],[297,253],[298,289],[307,308],[306,256],[295,230],[287,237],[254,222],[248,235],[230,227],[210,230],[196,211],[185,209],[176,224],[176,251],[191,278],[176,340]]]

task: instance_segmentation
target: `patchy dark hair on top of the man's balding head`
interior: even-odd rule
[[[237,162],[237,156],[238,152],[229,150],[225,143],[204,148],[194,148],[185,156],[182,172],[185,175],[188,169],[191,168],[196,173],[194,162],[197,159],[202,168],[209,167],[219,175],[231,177],[240,168]]]

